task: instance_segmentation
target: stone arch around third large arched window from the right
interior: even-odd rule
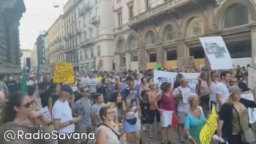
[[[168,26],[168,25],[172,25],[175,28],[177,38],[179,37],[179,26],[178,26],[177,22],[174,20],[164,21],[163,25],[161,26],[161,28],[159,30],[159,41],[161,41],[161,42],[164,41],[164,31],[165,31],[166,26]]]

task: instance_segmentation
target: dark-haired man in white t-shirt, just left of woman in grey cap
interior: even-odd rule
[[[229,85],[231,79],[231,73],[229,71],[222,71],[220,74],[221,82],[215,87],[216,99],[217,99],[217,111],[220,111],[220,107],[225,103],[229,96]]]

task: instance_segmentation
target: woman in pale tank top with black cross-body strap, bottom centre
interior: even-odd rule
[[[100,124],[96,133],[95,143],[97,144],[118,144],[121,133],[123,133],[123,126],[118,126],[113,123],[116,111],[113,111],[109,106],[100,109],[100,117],[102,124]]]

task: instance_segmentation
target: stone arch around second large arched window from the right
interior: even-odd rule
[[[207,18],[206,16],[201,13],[201,12],[193,12],[193,13],[188,13],[187,15],[185,15],[182,23],[181,23],[181,27],[180,27],[180,37],[179,38],[185,38],[186,37],[186,31],[187,31],[187,26],[189,24],[189,22],[193,19],[193,18],[201,18],[204,22],[204,31],[206,31],[207,29]]]

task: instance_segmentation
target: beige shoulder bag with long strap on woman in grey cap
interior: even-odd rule
[[[239,125],[241,126],[242,129],[242,135],[241,135],[241,139],[242,142],[244,143],[252,143],[254,141],[254,134],[252,132],[252,129],[249,127],[247,130],[243,130],[243,127],[241,125],[241,121],[240,121],[240,117],[238,114],[238,111],[236,110],[236,108],[233,106],[234,110],[236,111],[237,117],[238,117],[238,121],[239,121]]]

